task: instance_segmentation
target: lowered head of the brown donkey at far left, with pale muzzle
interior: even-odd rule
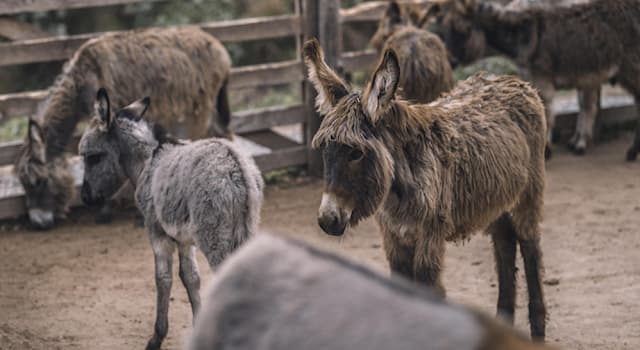
[[[64,156],[47,159],[44,132],[32,119],[14,169],[35,228],[49,229],[55,219],[64,218],[74,193],[69,164]]]

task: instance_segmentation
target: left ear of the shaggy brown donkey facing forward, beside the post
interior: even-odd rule
[[[324,52],[317,39],[305,42],[303,53],[304,62],[309,70],[309,81],[318,93],[316,109],[318,113],[326,115],[340,99],[349,94],[349,89],[347,84],[327,66],[324,61]]]

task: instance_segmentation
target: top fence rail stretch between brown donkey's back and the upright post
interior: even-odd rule
[[[300,22],[299,16],[282,15],[206,23],[201,27],[218,40],[230,43],[298,35]]]

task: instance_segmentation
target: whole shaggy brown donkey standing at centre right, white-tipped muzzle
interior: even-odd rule
[[[513,322],[516,243],[529,287],[531,335],[545,336],[539,223],[544,190],[544,106],[515,77],[483,74],[430,104],[396,98],[400,65],[387,50],[364,92],[350,92],[304,45],[324,119],[325,188],[318,223],[331,235],[376,213],[393,272],[436,287],[446,241],[488,227],[500,282],[498,312]]]

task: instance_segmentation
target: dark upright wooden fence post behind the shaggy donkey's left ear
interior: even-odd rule
[[[318,38],[329,67],[341,72],[342,27],[340,24],[340,0],[304,1],[304,39]],[[320,116],[315,111],[316,93],[313,86],[305,82],[303,90],[306,110],[305,144],[308,149],[309,173],[322,176],[322,155],[311,149],[313,135],[320,127]]]

